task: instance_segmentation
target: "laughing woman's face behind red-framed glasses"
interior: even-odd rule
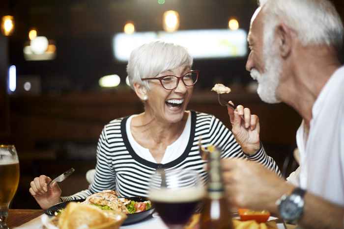
[[[160,73],[159,76],[183,76],[190,71],[190,66],[180,66],[178,68]],[[181,121],[184,111],[189,103],[194,87],[187,87],[179,80],[178,86],[174,90],[166,90],[159,80],[149,80],[148,100],[146,110],[161,122],[176,123]]]

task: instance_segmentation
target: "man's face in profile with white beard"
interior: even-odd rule
[[[258,95],[268,103],[281,102],[276,96],[279,85],[281,60],[274,45],[274,30],[263,33],[263,12],[258,8],[251,19],[248,43],[250,54],[246,70],[258,81]]]

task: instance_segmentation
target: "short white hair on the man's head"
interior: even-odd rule
[[[297,32],[301,44],[343,45],[343,23],[328,0],[258,0],[264,12],[264,36],[267,30],[284,23]]]

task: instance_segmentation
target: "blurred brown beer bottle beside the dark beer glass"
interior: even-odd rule
[[[221,153],[208,147],[208,187],[201,212],[201,229],[233,229],[230,207],[222,180]]]

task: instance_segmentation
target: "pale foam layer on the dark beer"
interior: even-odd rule
[[[191,187],[181,189],[156,189],[150,190],[148,199],[157,202],[187,203],[199,201],[205,196],[204,187]]]

